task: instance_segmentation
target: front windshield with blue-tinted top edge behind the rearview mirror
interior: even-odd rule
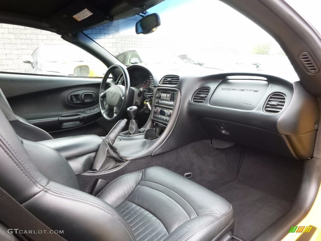
[[[227,71],[294,72],[269,34],[220,1],[166,0],[145,15],[150,13],[158,13],[161,19],[152,34],[135,33],[135,23],[142,18],[138,15],[84,33],[126,65],[137,59],[145,64],[179,63],[177,56],[183,64]],[[150,50],[137,50],[137,56],[129,54],[146,48]]]

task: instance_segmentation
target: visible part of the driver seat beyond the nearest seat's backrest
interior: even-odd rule
[[[43,141],[53,139],[53,137],[48,132],[32,125],[28,120],[20,116],[17,116],[15,113],[13,113],[13,110],[10,104],[8,103],[8,100],[4,96],[4,93],[1,89],[0,109],[2,110],[5,117],[7,118],[12,128],[19,137],[30,141]]]

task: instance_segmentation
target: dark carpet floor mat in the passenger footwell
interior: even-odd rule
[[[252,240],[291,206],[299,190],[303,164],[247,149],[239,176],[215,193],[232,204],[234,235]]]

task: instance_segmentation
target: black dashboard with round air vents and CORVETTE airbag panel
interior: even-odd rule
[[[133,65],[128,72],[132,87],[153,93],[148,127],[171,126],[162,150],[220,139],[292,159],[313,154],[318,104],[298,80],[189,65]]]

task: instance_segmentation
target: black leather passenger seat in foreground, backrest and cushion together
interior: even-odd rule
[[[19,138],[0,111],[0,185],[67,240],[230,240],[229,202],[162,167],[123,175],[96,197],[54,149]],[[1,222],[1,217],[0,217]],[[14,228],[14,227],[9,227]]]

